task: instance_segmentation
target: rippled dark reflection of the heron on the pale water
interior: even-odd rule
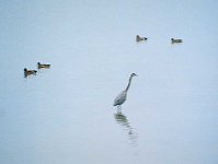
[[[137,147],[138,134],[135,132],[135,129],[130,126],[127,117],[123,113],[118,112],[114,114],[114,118],[116,120],[116,124],[121,125],[124,128],[124,131],[127,131],[130,144]]]

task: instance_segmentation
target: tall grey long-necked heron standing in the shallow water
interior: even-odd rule
[[[131,73],[126,90],[124,90],[121,94],[118,94],[118,96],[114,99],[114,106],[117,106],[117,108],[121,107],[121,105],[124,104],[124,102],[126,101],[127,92],[128,89],[130,87],[133,77],[137,77],[137,74]]]

